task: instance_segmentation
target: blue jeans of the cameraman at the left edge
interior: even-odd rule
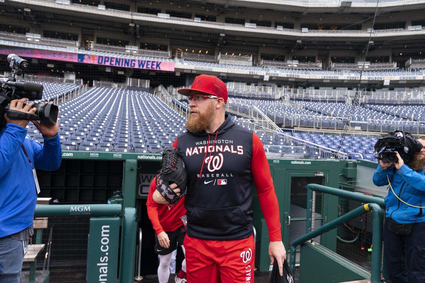
[[[24,260],[23,242],[28,246],[28,240],[0,238],[0,283],[19,283]]]

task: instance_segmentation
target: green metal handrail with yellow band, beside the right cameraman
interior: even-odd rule
[[[366,204],[357,207],[354,210],[340,216],[329,223],[322,225],[321,227],[312,231],[312,219],[313,219],[313,200],[314,191],[320,191],[322,193],[328,193],[334,196],[341,196],[347,199],[354,199]],[[306,234],[300,238],[291,242],[291,258],[290,268],[292,274],[295,274],[295,258],[296,258],[296,247],[312,238],[315,238],[323,233],[326,233],[332,229],[337,228],[341,224],[348,222],[351,219],[363,215],[369,211],[373,213],[373,235],[372,244],[374,249],[372,251],[372,266],[371,266],[371,283],[381,282],[381,266],[382,266],[382,227],[383,227],[383,213],[382,208],[385,208],[384,200],[374,196],[367,196],[362,193],[354,193],[350,191],[344,191],[341,189],[330,188],[323,185],[309,184],[307,186],[307,220],[306,220]]]

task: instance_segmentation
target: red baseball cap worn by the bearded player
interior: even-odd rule
[[[190,96],[190,91],[195,90],[206,95],[212,95],[215,97],[220,97],[224,99],[224,103],[227,103],[227,87],[224,82],[210,75],[199,75],[193,81],[192,87],[182,88],[177,90],[181,95]]]

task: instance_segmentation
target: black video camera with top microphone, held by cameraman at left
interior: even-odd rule
[[[0,120],[6,113],[11,120],[40,120],[55,124],[59,108],[53,104],[34,103],[32,107],[37,108],[34,114],[21,111],[9,110],[10,101],[14,99],[28,98],[29,100],[40,100],[43,94],[43,85],[25,81],[17,81],[15,75],[21,76],[28,69],[28,61],[15,54],[9,54],[7,61],[12,68],[11,76],[0,75]],[[25,107],[26,104],[23,105]]]

